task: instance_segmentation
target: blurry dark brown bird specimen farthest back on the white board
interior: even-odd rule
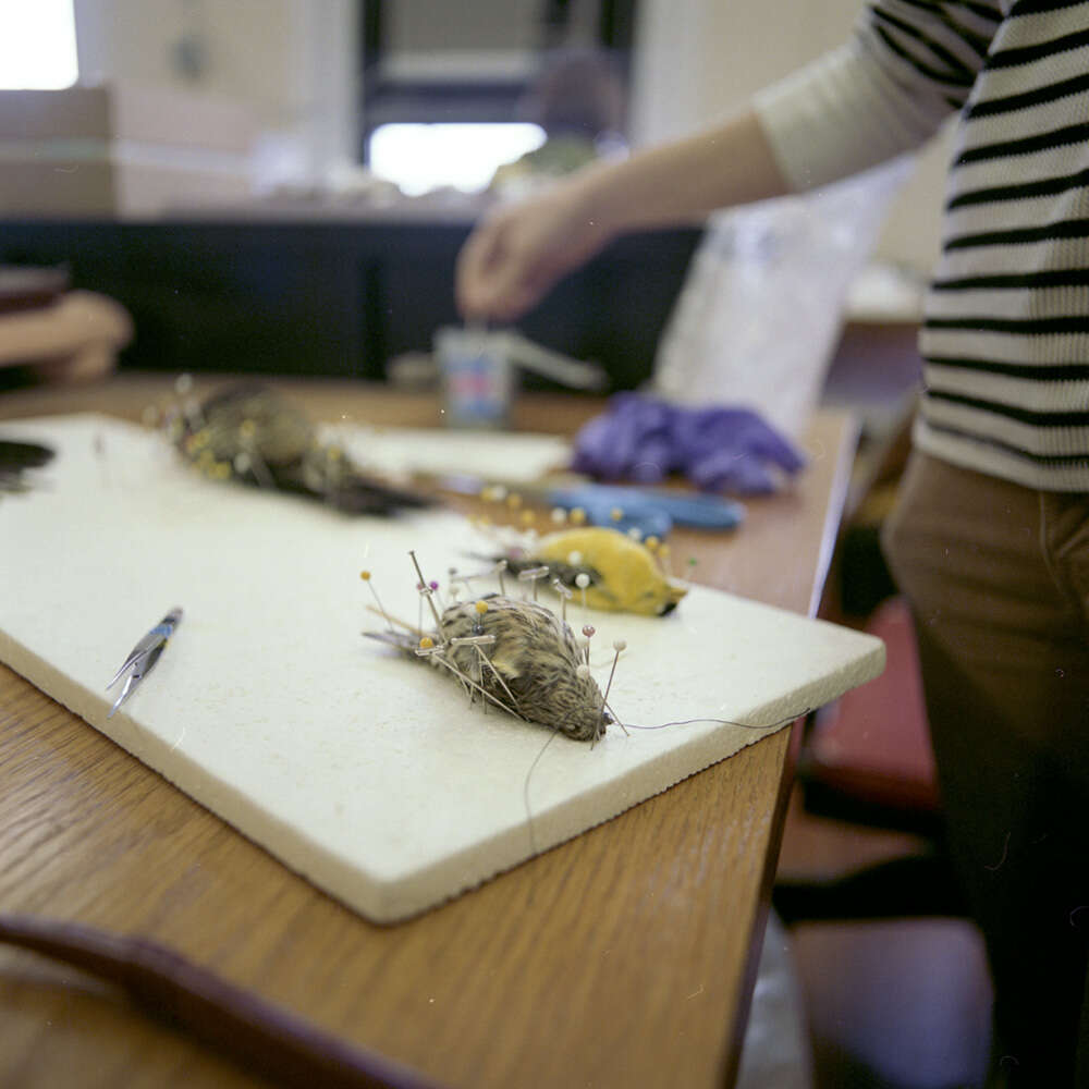
[[[428,506],[427,497],[365,473],[314,421],[267,387],[231,386],[167,423],[174,445],[213,479],[295,492],[346,514],[392,514]]]

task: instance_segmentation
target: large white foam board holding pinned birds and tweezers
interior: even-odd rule
[[[98,416],[5,425],[59,451],[0,501],[0,659],[364,916],[400,920],[736,752],[766,731],[710,721],[595,747],[470,708],[455,682],[360,636],[415,621],[425,575],[472,567],[464,519],[348,518],[208,482],[157,436]],[[511,437],[512,444],[517,438]],[[488,589],[480,584],[481,591]],[[103,686],[173,605],[185,619],[112,719]],[[880,640],[694,587],[669,617],[571,610],[621,659],[632,723],[782,720],[880,673]]]

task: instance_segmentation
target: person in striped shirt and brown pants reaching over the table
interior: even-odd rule
[[[987,940],[992,1081],[1089,1085],[1089,3],[877,0],[736,115],[486,216],[456,295],[513,320],[622,232],[822,186],[954,114],[885,548]]]

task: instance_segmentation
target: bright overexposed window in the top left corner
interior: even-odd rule
[[[72,0],[0,0],[0,89],[60,89],[78,74]]]

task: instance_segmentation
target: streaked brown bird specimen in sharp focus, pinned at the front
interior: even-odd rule
[[[365,572],[366,576],[367,573]],[[597,741],[613,721],[574,633],[544,605],[489,594],[440,614],[432,632],[366,632],[427,659],[474,695],[575,741]],[[592,628],[589,629],[592,634]]]

